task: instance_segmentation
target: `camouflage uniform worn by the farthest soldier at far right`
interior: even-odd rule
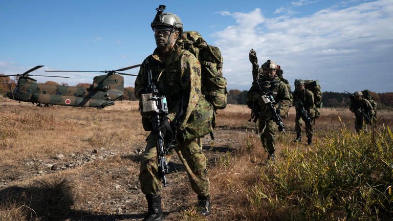
[[[367,124],[364,123],[363,114],[359,111],[360,108],[362,108],[365,114],[369,117],[372,117],[375,114],[373,106],[368,100],[364,98],[361,98],[359,101],[351,99],[350,111],[355,114],[355,129],[357,132],[360,130],[367,130]]]

